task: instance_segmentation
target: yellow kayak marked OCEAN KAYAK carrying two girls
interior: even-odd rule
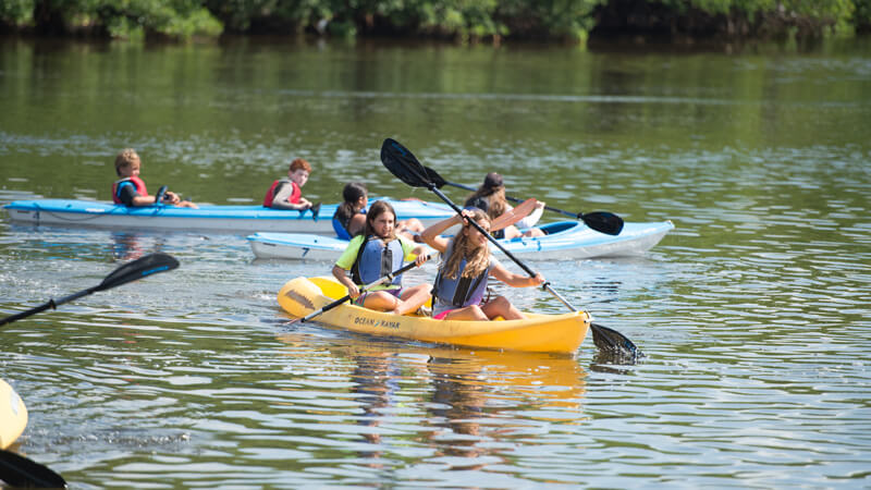
[[[347,294],[333,278],[296,278],[279,291],[279,304],[294,317],[304,317]],[[572,354],[590,327],[585,311],[562,315],[525,314],[525,320],[456,321],[422,316],[396,316],[344,303],[316,320],[327,326],[371,335],[424,342]]]

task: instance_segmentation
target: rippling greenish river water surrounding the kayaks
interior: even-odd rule
[[[871,486],[867,40],[0,41],[0,204],[107,200],[127,146],[149,185],[199,203],[258,203],[295,157],[315,167],[312,200],[348,181],[434,199],[383,170],[385,137],[453,182],[499,170],[562,209],[672,220],[643,257],[535,262],[648,357],[602,362],[591,339],[557,357],[291,328],[275,293],[329,264],[254,260],[244,236],[3,212],[3,316],[142,254],[182,264],[0,330],[0,378],[30,414],[16,451],[75,488]]]

